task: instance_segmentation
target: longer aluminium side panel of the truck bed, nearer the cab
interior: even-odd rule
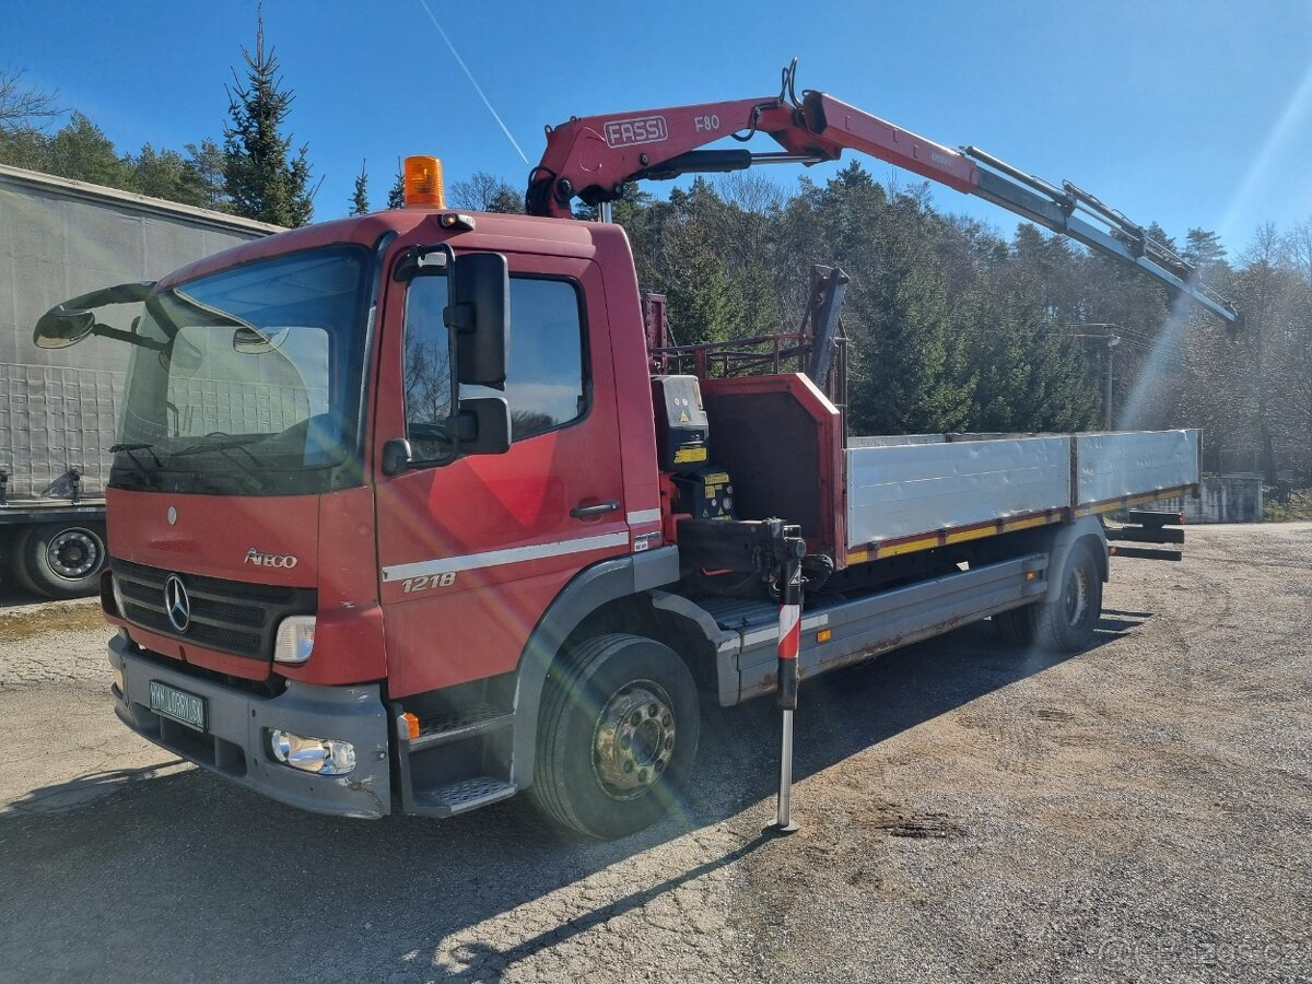
[[[849,547],[1069,505],[1069,437],[848,450]]]

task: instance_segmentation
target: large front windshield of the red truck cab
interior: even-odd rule
[[[110,484],[286,495],[354,466],[369,255],[316,249],[151,297]]]

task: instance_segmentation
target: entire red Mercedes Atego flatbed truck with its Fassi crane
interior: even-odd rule
[[[695,150],[757,131],[783,152]],[[442,817],[529,790],[613,837],[678,796],[699,691],[778,685],[787,543],[804,541],[803,678],[989,617],[1017,643],[1086,646],[1101,516],[1194,485],[1197,432],[849,437],[841,272],[815,274],[810,328],[737,375],[741,346],[664,345],[625,231],[569,216],[638,178],[844,148],[1235,319],[1092,195],[796,100],[791,72],[778,97],[556,127],[529,215],[446,209],[436,161],[412,159],[412,207],[38,324],[68,345],[114,331],[98,307],[143,306],[114,335],[133,352],[101,592],[118,716],[306,810]],[[1132,539],[1182,539],[1143,518]]]

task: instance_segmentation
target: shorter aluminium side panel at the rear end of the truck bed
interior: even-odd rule
[[[1076,438],[1076,504],[1197,484],[1198,455],[1198,430],[1081,434]]]

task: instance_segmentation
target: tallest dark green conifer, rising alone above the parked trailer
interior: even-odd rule
[[[223,130],[226,190],[232,211],[276,226],[304,226],[314,216],[308,144],[287,160],[291,136],[282,135],[294,93],[282,88],[274,50],[265,50],[264,14],[256,24],[255,52],[241,49],[247,84],[232,70],[227,89],[232,123]]]

